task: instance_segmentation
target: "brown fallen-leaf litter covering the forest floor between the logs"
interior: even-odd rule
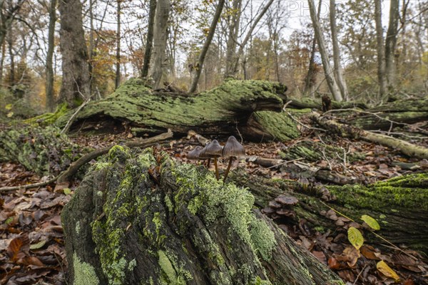
[[[131,135],[126,133],[71,136],[71,140],[78,145],[93,148],[110,146],[130,138]],[[300,140],[329,144],[332,138],[307,135]],[[362,160],[349,163],[344,160],[343,153],[337,153],[337,157],[302,162],[311,166],[330,168],[332,172],[363,183],[385,180],[406,173],[428,171],[427,160],[409,159],[387,147],[369,142],[342,138],[333,140],[335,146],[342,147],[344,153],[362,153]],[[225,139],[220,142],[224,141]],[[247,143],[245,150],[247,155],[280,159],[281,150],[286,150],[296,143],[297,141],[287,142],[286,145],[282,142]],[[414,143],[428,146],[428,140]],[[183,138],[163,142],[157,147],[168,152],[175,160],[189,162],[185,155],[195,145],[198,145],[195,139]],[[225,169],[226,166],[227,162],[220,160],[220,168]],[[265,168],[245,160],[235,162],[233,167],[243,167],[252,175],[295,179],[292,174],[283,172],[280,167]],[[0,174],[0,187],[49,180],[49,177],[39,177],[14,163],[2,163]],[[299,180],[307,182],[306,178]],[[75,181],[66,188],[48,185],[0,192],[0,284],[66,284],[67,263],[60,215],[61,209],[71,199],[78,185],[79,181]],[[302,234],[296,225],[281,223],[281,227],[298,244],[312,252],[322,263],[330,266],[346,284],[428,284],[427,257],[411,249],[402,249],[401,252],[387,247],[380,249],[368,245],[370,241],[367,241],[360,252],[357,252],[345,234],[340,231],[322,234],[312,229],[310,233]],[[379,260],[384,260],[389,266],[379,266]]]

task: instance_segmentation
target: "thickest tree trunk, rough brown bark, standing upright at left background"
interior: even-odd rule
[[[88,52],[82,24],[80,0],[61,0],[60,47],[62,54],[62,86],[59,101],[74,108],[89,96]]]

